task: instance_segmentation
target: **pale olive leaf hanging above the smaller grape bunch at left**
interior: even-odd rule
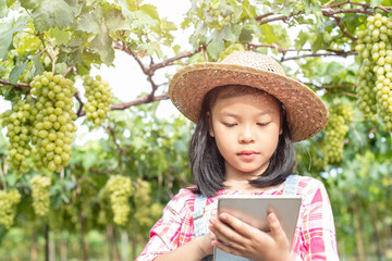
[[[110,66],[114,60],[113,40],[109,35],[109,30],[105,25],[100,26],[100,33],[93,39],[90,44],[91,50],[99,53],[102,62]]]

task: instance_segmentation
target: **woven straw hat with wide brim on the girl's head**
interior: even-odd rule
[[[195,63],[180,70],[169,84],[169,97],[191,121],[197,123],[205,95],[218,86],[247,85],[274,96],[286,110],[293,141],[313,137],[327,124],[328,111],[308,87],[289,78],[272,58],[236,51],[220,63]]]

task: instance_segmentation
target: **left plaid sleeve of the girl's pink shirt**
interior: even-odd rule
[[[152,226],[149,241],[135,261],[155,260],[158,256],[177,248],[184,240],[189,240],[189,235],[184,236],[183,233],[183,226],[186,225],[185,214],[186,200],[184,191],[180,191],[163,209],[162,217]]]

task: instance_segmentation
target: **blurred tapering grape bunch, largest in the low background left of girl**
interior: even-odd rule
[[[101,201],[109,198],[111,210],[113,212],[113,222],[125,226],[131,213],[130,198],[133,192],[131,178],[122,175],[113,175],[105,185],[105,197]]]

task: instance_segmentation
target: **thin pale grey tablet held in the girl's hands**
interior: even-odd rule
[[[278,215],[278,219],[289,238],[291,246],[298,220],[301,202],[301,196],[221,196],[218,199],[218,213],[230,213],[254,227],[269,232],[267,214],[268,210],[271,208]],[[215,248],[213,260],[243,261],[248,259],[232,253],[226,253],[219,248]]]

